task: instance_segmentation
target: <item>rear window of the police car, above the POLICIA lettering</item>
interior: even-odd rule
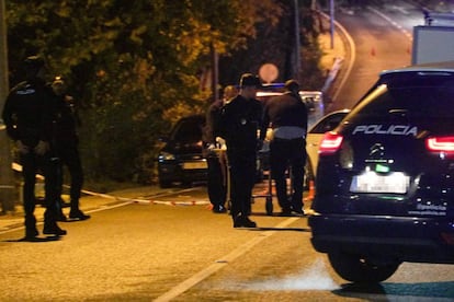
[[[381,80],[353,109],[362,115],[384,115],[405,111],[412,116],[454,117],[452,73],[395,74]]]

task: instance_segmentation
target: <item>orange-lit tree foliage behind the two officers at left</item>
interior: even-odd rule
[[[214,47],[231,56],[285,12],[279,0],[7,1],[10,82],[43,55],[80,103],[89,178],[149,178],[163,131],[203,112],[200,72]],[[50,80],[50,78],[49,78]]]

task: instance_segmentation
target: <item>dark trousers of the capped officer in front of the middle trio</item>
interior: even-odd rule
[[[227,149],[228,150],[228,149]],[[251,212],[252,188],[256,184],[256,152],[229,152],[231,217]]]

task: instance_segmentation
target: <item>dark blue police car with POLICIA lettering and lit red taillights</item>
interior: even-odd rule
[[[345,280],[454,264],[454,61],[384,71],[319,148],[311,243]]]

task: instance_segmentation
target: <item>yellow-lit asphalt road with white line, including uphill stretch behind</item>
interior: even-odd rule
[[[409,20],[397,12],[394,20]],[[368,10],[337,16],[357,49],[353,78],[336,100],[344,107],[376,72],[407,65],[408,40]],[[264,184],[256,187],[263,191]],[[22,242],[20,225],[0,232],[0,301],[454,300],[450,265],[405,263],[370,288],[342,280],[311,247],[307,218],[266,216],[263,198],[253,205],[259,228],[250,230],[212,213],[203,186],[129,191],[88,211],[88,221],[61,223],[68,235],[60,239]]]

